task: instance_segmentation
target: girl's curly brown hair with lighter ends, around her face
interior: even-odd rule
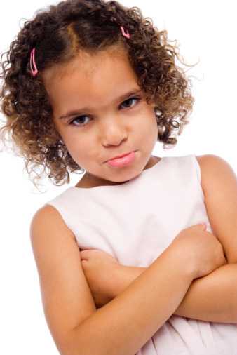
[[[129,41],[121,34],[120,26],[130,33]],[[126,8],[117,1],[61,1],[27,20],[9,50],[1,55],[0,78],[4,81],[0,109],[6,124],[0,128],[0,138],[4,142],[11,134],[15,152],[19,149],[25,158],[29,178],[36,173],[35,167],[43,166],[44,171],[46,167],[50,170],[48,178],[54,185],[63,185],[70,181],[69,172],[84,171],[72,159],[55,128],[41,76],[44,69],[69,62],[79,51],[95,54],[111,46],[126,51],[147,103],[155,103],[157,140],[164,143],[164,148],[175,145],[173,132],[178,130],[180,135],[182,126],[189,123],[187,115],[194,98],[184,70],[175,64],[175,57],[180,59],[178,48],[168,42],[167,31],[159,32],[151,18],[143,17],[140,8]],[[34,78],[29,65],[32,48],[36,48],[39,70]],[[39,178],[36,173],[33,183]]]

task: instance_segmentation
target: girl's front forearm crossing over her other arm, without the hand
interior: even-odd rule
[[[131,355],[139,351],[187,293],[196,274],[193,260],[188,258],[180,262],[175,248],[165,249],[123,293],[72,330],[64,355]]]

